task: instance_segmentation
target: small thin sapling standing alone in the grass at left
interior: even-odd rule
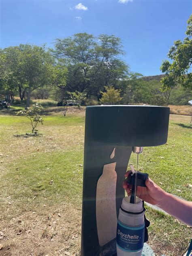
[[[32,133],[34,133],[34,130],[37,124],[38,123],[43,124],[43,117],[41,117],[41,113],[43,111],[44,111],[44,108],[41,105],[36,104],[24,110],[18,111],[17,115],[26,116],[30,120],[31,126],[32,126]]]

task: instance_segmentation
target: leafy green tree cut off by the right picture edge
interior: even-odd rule
[[[166,74],[166,77],[162,79],[162,90],[170,90],[176,85],[192,89],[192,73],[190,73],[190,67],[192,64],[192,15],[187,21],[188,27],[186,34],[188,37],[174,42],[174,45],[170,48],[168,57],[173,61],[164,60],[160,70]]]

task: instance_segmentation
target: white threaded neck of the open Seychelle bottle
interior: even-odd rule
[[[136,197],[136,203],[132,204],[130,203],[130,196],[126,196],[123,198],[121,207],[125,211],[137,213],[143,211],[143,202],[141,199]]]

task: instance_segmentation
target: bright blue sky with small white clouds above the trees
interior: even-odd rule
[[[162,60],[185,37],[192,11],[190,0],[0,1],[0,47],[53,47],[55,38],[79,32],[113,34],[122,39],[131,71],[145,76],[161,74]]]

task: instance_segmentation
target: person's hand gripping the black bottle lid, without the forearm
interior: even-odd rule
[[[128,177],[131,173],[132,171],[126,172],[125,177]],[[137,196],[141,198],[141,200],[150,203],[151,205],[159,206],[162,201],[163,194],[165,193],[164,190],[162,190],[162,188],[160,188],[151,179],[147,179],[145,181],[145,185],[146,187],[137,187]],[[132,185],[128,184],[127,181],[124,180],[123,188],[126,190],[128,196],[130,196]]]

